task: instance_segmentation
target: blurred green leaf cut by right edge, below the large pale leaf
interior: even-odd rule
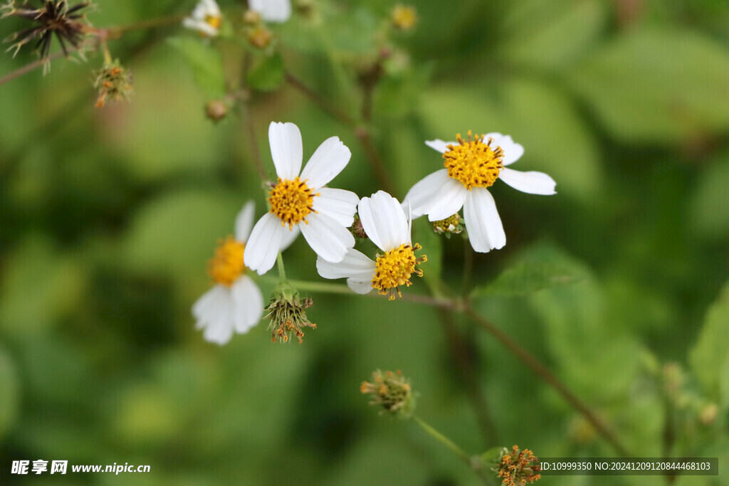
[[[729,152],[703,169],[693,187],[689,205],[690,225],[705,238],[729,235]]]

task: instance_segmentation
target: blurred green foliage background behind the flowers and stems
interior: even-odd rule
[[[96,3],[97,27],[195,5]],[[478,310],[634,455],[719,457],[725,467],[729,4],[413,1],[409,31],[387,27],[391,1],[294,4],[287,23],[270,26],[272,48],[305,85],[356,118],[363,80],[381,68],[371,132],[396,197],[441,166],[425,140],[467,130],[509,133],[526,149],[515,168],[557,181],[550,197],[494,186],[508,244],[475,259]],[[235,31],[243,4],[220,5]],[[24,26],[2,20],[0,34]],[[183,40],[165,40],[173,36]],[[235,110],[217,124],[205,117],[211,93],[179,49],[190,42],[205,45],[178,25],[109,42],[133,71],[130,103],[94,108],[93,53],[0,86],[1,483],[49,481],[9,474],[12,460],[61,459],[151,472],[69,472],[59,484],[477,484],[413,423],[367,407],[359,385],[378,368],[402,369],[418,415],[469,452],[519,444],[545,457],[616,455],[491,336],[412,302],[313,293],[318,329],[303,345],[270,342],[266,321],[224,347],[205,342],[190,307],[210,285],[206,262],[243,203],[256,200],[260,216],[265,200],[245,120]],[[241,47],[207,47],[222,52],[230,83]],[[34,59],[1,55],[0,76]],[[350,128],[290,85],[269,84],[249,98],[269,176],[268,124],[290,121],[305,158],[332,135],[351,148],[335,187],[360,196],[381,187]],[[463,240],[415,226],[458,289]],[[303,240],[285,260],[289,277],[318,280]],[[408,292],[426,288],[418,280]]]

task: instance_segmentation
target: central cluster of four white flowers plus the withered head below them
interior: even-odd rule
[[[271,122],[268,128],[276,181],[268,184],[268,211],[253,225],[253,205],[241,211],[236,236],[225,240],[211,261],[217,283],[193,307],[198,327],[207,340],[222,344],[233,332],[247,332],[262,315],[260,290],[249,270],[263,275],[299,233],[316,254],[323,278],[346,278],[357,294],[377,289],[389,300],[402,297],[402,287],[422,276],[426,255],[413,243],[413,216],[427,215],[434,232],[447,236],[465,229],[476,251],[502,248],[504,228],[488,187],[503,179],[532,194],[554,194],[555,182],[541,172],[507,168],[524,152],[510,136],[488,133],[456,141],[427,141],[443,154],[443,169],[415,184],[404,202],[384,191],[359,197],[328,184],[348,165],[351,152],[336,136],[327,138],[303,166],[301,132],[293,123]],[[464,219],[459,215],[464,208]],[[356,216],[355,216],[356,215]],[[351,229],[348,229],[351,228]],[[355,249],[356,235],[369,239],[379,251],[373,257]],[[364,243],[366,244],[366,243]],[[285,286],[286,289],[284,289]],[[284,291],[285,290],[285,291]],[[303,327],[315,327],[305,317],[308,301],[298,297],[285,279],[268,307],[273,340],[303,337]]]

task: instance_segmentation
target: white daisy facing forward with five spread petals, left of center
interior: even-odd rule
[[[324,185],[346,167],[351,152],[338,137],[327,138],[302,171],[301,132],[296,125],[271,122],[268,141],[278,182],[268,195],[270,211],[253,227],[246,265],[260,275],[268,272],[284,241],[295,238],[299,229],[317,255],[340,262],[354,246],[347,227],[354,222],[359,197]]]

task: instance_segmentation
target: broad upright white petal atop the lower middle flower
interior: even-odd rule
[[[378,191],[372,197],[362,197],[359,201],[359,219],[362,220],[364,232],[383,251],[397,248],[410,238],[405,211],[397,199],[387,192]]]

